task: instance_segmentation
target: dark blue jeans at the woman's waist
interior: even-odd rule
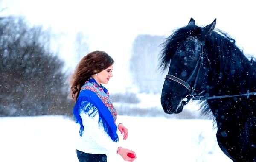
[[[105,154],[88,154],[76,150],[76,155],[79,162],[107,162],[107,155]]]

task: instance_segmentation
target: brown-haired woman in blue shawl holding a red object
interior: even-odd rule
[[[118,147],[118,130],[128,137],[128,130],[122,123],[116,126],[116,109],[109,99],[108,84],[113,76],[114,60],[104,51],[93,51],[79,62],[73,74],[71,95],[76,100],[73,114],[80,124],[80,142],[77,145],[79,162],[107,162],[107,155],[113,149],[125,161],[136,159],[127,156],[134,151]]]

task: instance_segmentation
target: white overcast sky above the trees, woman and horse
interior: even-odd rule
[[[2,3],[2,4],[1,4]],[[43,24],[64,33],[60,56],[74,67],[74,38],[78,31],[88,35],[90,51],[104,50],[115,60],[118,77],[113,85],[127,87],[128,61],[137,34],[166,35],[193,17],[205,26],[217,18],[216,28],[229,33],[245,53],[255,54],[255,5],[244,0],[2,0],[6,12],[23,15],[32,24]],[[115,80],[115,81],[114,81]],[[111,84],[111,82],[110,82]]]

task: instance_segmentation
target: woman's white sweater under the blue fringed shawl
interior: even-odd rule
[[[89,103],[90,104],[90,103]],[[94,107],[96,109],[96,107]],[[91,113],[93,110],[90,110]],[[93,113],[92,117],[89,117],[87,113],[81,112],[84,131],[78,142],[77,150],[90,153],[90,154],[106,154],[108,156],[109,151],[117,151],[118,142],[114,142],[105,133],[102,124],[99,124],[98,110]]]

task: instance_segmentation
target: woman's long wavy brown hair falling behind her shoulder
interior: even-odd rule
[[[91,75],[107,69],[114,60],[104,51],[93,51],[84,56],[76,67],[71,80],[71,96],[76,101],[81,87]]]

